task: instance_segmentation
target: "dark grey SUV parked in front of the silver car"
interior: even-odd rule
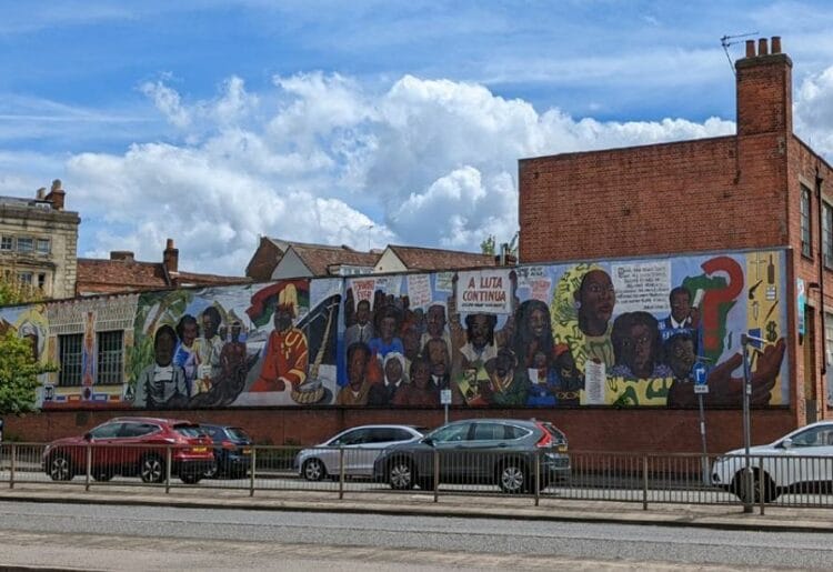
[[[373,480],[393,489],[434,486],[440,482],[493,483],[508,493],[534,488],[535,458],[540,486],[570,478],[564,433],[552,423],[516,419],[469,419],[442,425],[416,442],[387,449],[373,465]]]

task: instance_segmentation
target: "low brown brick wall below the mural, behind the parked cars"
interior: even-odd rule
[[[16,440],[47,442],[83,434],[122,413],[109,411],[50,411],[24,418],[6,418],[6,434]],[[131,414],[137,414],[132,413]],[[162,414],[154,412],[153,414]],[[170,418],[244,428],[258,444],[314,444],[350,427],[365,423],[408,423],[433,428],[443,423],[442,410],[373,409],[261,409],[224,411],[169,411]],[[451,410],[449,419],[503,417],[552,421],[564,431],[574,451],[700,452],[700,421],[695,410],[565,409],[565,410]],[[707,448],[725,452],[743,444],[739,410],[706,411]],[[753,439],[765,443],[794,427],[786,409],[754,410]]]

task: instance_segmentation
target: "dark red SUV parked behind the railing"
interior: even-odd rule
[[[167,449],[171,451],[171,475],[184,483],[198,482],[214,463],[211,438],[199,425],[180,419],[117,418],[81,436],[49,443],[42,468],[53,481],[69,481],[87,472],[97,481],[114,475],[136,476],[145,483],[165,479]]]

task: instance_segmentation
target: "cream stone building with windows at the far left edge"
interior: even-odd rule
[[[52,299],[76,295],[81,219],[64,210],[64,198],[60,180],[33,199],[0,197],[0,272]]]

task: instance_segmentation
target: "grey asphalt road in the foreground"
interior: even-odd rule
[[[0,565],[87,570],[830,569],[833,533],[3,502]]]

